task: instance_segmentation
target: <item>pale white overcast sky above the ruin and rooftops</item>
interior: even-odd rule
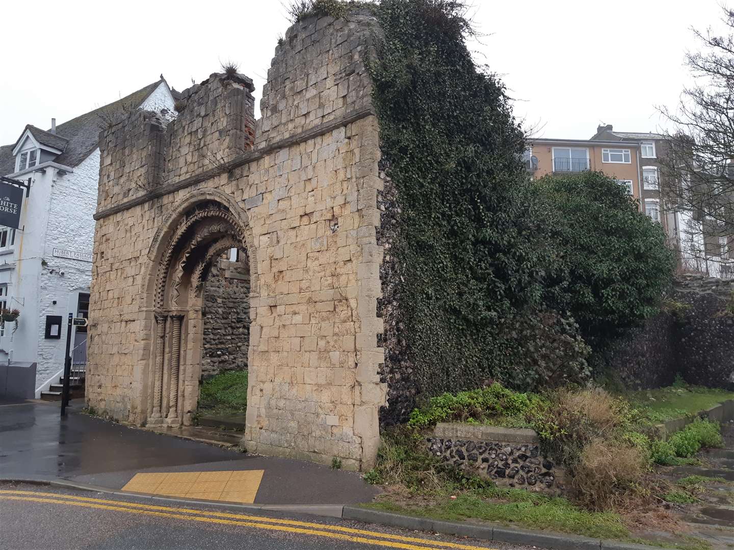
[[[287,0],[286,0],[287,1]],[[280,0],[12,2],[4,6],[0,144],[117,100],[162,73],[176,89],[231,60],[261,97]],[[588,139],[600,122],[655,131],[657,105],[686,82],[689,27],[719,23],[717,0],[474,0],[477,62],[500,73],[539,136]],[[259,113],[256,113],[259,116]]]

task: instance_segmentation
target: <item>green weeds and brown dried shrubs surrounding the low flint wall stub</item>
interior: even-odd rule
[[[568,488],[573,504],[534,494],[523,502],[541,499],[544,508],[515,510],[524,505],[509,505],[520,498],[516,493],[527,495],[526,491],[497,488],[491,481],[459,472],[426,452],[424,434],[437,422],[533,428],[541,439],[542,451],[562,463],[570,475]],[[633,408],[623,397],[614,397],[601,389],[566,388],[537,395],[514,392],[495,383],[482,389],[432,397],[416,408],[406,425],[383,438],[377,466],[365,479],[368,483],[399,488],[399,497],[388,498],[389,502],[403,507],[409,505],[412,513],[451,518],[452,514],[461,515],[457,510],[465,510],[477,514],[466,517],[504,518],[504,521],[509,517],[504,514],[512,510],[518,518],[524,518],[517,521],[528,527],[534,527],[534,521],[539,518],[552,523],[546,513],[556,516],[563,524],[567,518],[576,517],[568,516],[568,507],[575,510],[574,514],[627,510],[650,502],[653,494],[662,494],[668,502],[695,502],[694,485],[700,480],[691,477],[677,488],[661,488],[649,474],[654,463],[682,463],[702,447],[720,447],[719,425],[697,419],[668,441],[651,438],[653,433],[653,423],[642,411]],[[457,505],[455,499],[446,501],[448,495],[464,498]],[[415,496],[420,498],[416,500]],[[432,504],[421,504],[426,499]],[[485,502],[487,499],[491,502]],[[530,513],[527,518],[526,512]],[[586,518],[586,521],[592,524],[595,520]],[[573,521],[554,528],[586,533],[572,524]]]

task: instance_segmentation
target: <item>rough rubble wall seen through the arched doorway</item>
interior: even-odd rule
[[[204,284],[201,373],[247,370],[250,348],[250,265],[219,260]]]

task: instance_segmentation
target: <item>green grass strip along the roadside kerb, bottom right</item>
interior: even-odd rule
[[[505,495],[508,496],[508,495]],[[517,491],[515,502],[491,502],[479,496],[459,494],[456,499],[444,496],[429,506],[404,506],[395,502],[374,502],[366,507],[448,521],[468,518],[498,521],[534,529],[551,529],[599,538],[625,538],[629,531],[622,518],[611,512],[588,512],[566,499]]]

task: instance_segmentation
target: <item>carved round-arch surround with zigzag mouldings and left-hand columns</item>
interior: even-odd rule
[[[222,195],[222,197],[219,197]],[[148,311],[153,313],[142,411],[148,425],[189,425],[205,351],[204,288],[231,250],[247,265],[247,216],[230,197],[199,191],[184,199],[151,247]]]

